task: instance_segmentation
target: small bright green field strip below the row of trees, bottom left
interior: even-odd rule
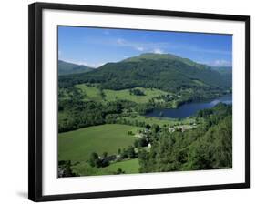
[[[92,168],[87,162],[81,162],[72,167],[73,171],[81,176],[111,175],[115,174],[118,168],[121,168],[126,174],[138,173],[138,158],[111,163],[106,168]]]

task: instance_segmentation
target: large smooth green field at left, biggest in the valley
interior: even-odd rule
[[[118,148],[128,148],[136,139],[128,131],[137,132],[137,127],[108,124],[81,128],[58,135],[58,159],[87,161],[92,152],[102,155],[117,154]]]

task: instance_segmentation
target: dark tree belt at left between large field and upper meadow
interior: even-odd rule
[[[82,94],[72,90],[72,96],[58,101],[58,132],[67,132],[77,128],[102,125],[105,123],[115,123],[118,115],[124,109],[135,106],[134,102],[118,100],[108,103],[96,101],[85,101]]]

